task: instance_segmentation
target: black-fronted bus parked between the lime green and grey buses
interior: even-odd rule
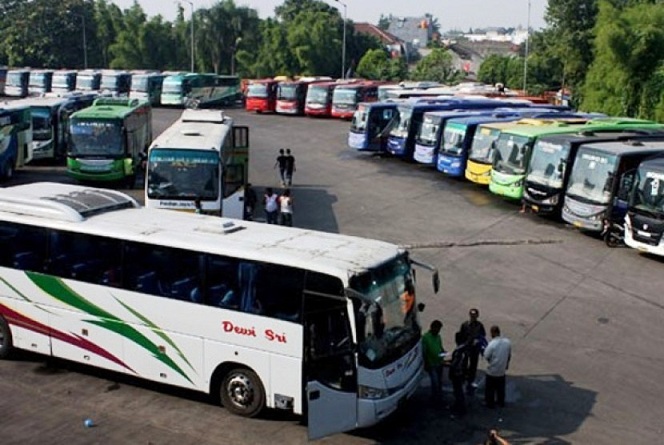
[[[524,179],[524,209],[543,216],[560,217],[563,197],[574,167],[576,153],[583,144],[619,140],[654,139],[657,132],[625,130],[542,136],[533,145]],[[664,134],[659,136],[664,138]]]

